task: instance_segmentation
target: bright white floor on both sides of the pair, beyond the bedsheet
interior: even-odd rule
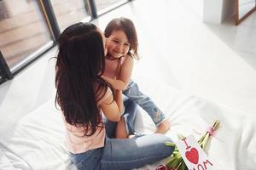
[[[142,88],[164,84],[256,115],[256,13],[240,26],[203,23],[201,14],[202,1],[136,0],[93,23],[103,30],[116,17],[134,21],[142,59],[132,77]],[[53,97],[55,54],[52,48],[0,86],[0,133]]]

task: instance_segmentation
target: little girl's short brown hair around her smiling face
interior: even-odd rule
[[[108,23],[108,26],[106,26],[105,28],[105,37],[109,37],[113,31],[125,32],[125,35],[130,43],[130,49],[128,54],[130,54],[135,59],[139,59],[139,55],[137,54],[137,31],[133,22],[130,19],[124,17],[113,19]]]

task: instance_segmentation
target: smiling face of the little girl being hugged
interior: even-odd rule
[[[115,59],[120,58],[127,54],[130,49],[130,42],[125,35],[124,31],[112,31],[108,37],[108,57]]]

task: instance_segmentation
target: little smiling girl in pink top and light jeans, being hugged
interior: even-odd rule
[[[111,20],[105,29],[105,37],[108,37],[108,54],[102,77],[114,89],[123,90],[125,96],[148,113],[156,125],[155,133],[166,133],[170,122],[154,102],[139,90],[137,83],[130,79],[133,59],[138,59],[137,31],[132,21],[126,18]]]

